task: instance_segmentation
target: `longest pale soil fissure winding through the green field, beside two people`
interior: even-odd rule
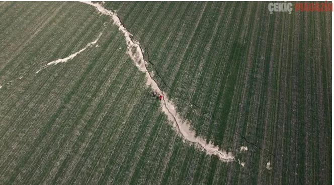
[[[200,137],[196,137],[194,131],[190,129],[190,125],[186,120],[183,120],[179,114],[176,112],[176,108],[171,100],[165,96],[165,94],[160,90],[157,83],[151,78],[150,74],[146,69],[146,61],[143,58],[143,53],[140,48],[138,41],[133,41],[131,39],[132,34],[127,31],[127,29],[122,25],[120,19],[112,11],[106,10],[100,4],[95,4],[92,2],[82,2],[88,5],[95,7],[100,13],[110,16],[114,24],[118,26],[118,30],[124,34],[126,43],[128,45],[127,51],[130,58],[133,60],[138,69],[145,73],[146,76],[146,85],[151,86],[151,88],[159,94],[164,96],[164,99],[161,101],[162,111],[168,116],[168,119],[173,122],[174,128],[176,131],[181,134],[183,139],[196,144],[198,147],[203,149],[207,154],[218,155],[219,158],[223,161],[233,161],[234,156],[231,152],[226,152],[219,150],[218,146],[214,146],[212,143],[206,143],[206,140]]]

